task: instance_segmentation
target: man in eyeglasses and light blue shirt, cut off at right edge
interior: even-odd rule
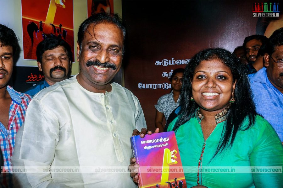
[[[264,66],[249,75],[256,111],[269,121],[283,144],[283,28],[269,38]]]

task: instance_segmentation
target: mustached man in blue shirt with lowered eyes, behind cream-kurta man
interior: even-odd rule
[[[38,69],[42,71],[45,79],[25,91],[32,97],[42,89],[69,77],[72,60],[71,47],[63,39],[48,38],[37,45],[36,58]]]

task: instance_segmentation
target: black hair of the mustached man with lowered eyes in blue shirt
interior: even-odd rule
[[[69,61],[72,61],[72,50],[70,45],[64,41],[63,39],[60,39],[58,37],[52,37],[42,40],[36,47],[36,60],[40,63],[42,63],[42,55],[46,50],[53,50],[57,48],[58,46],[62,46],[65,51],[67,51],[67,55],[69,58]]]

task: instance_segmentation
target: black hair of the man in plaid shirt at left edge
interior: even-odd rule
[[[0,43],[2,46],[12,46],[13,55],[18,50],[18,38],[16,37],[13,29],[8,28],[5,25],[0,24]],[[2,47],[1,46],[1,47]]]

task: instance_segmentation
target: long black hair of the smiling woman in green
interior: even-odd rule
[[[173,130],[176,132],[182,124],[195,116],[198,105],[196,102],[190,100],[192,97],[191,80],[194,70],[201,61],[214,59],[220,60],[227,65],[233,74],[233,81],[237,80],[234,96],[236,101],[231,103],[230,110],[227,113],[227,120],[214,154],[215,157],[217,153],[222,152],[226,147],[232,146],[239,130],[247,130],[253,125],[257,113],[252,100],[250,82],[240,59],[222,48],[206,49],[198,52],[185,68],[180,94],[181,111]],[[244,126],[242,123],[245,118],[249,119],[249,123]]]

